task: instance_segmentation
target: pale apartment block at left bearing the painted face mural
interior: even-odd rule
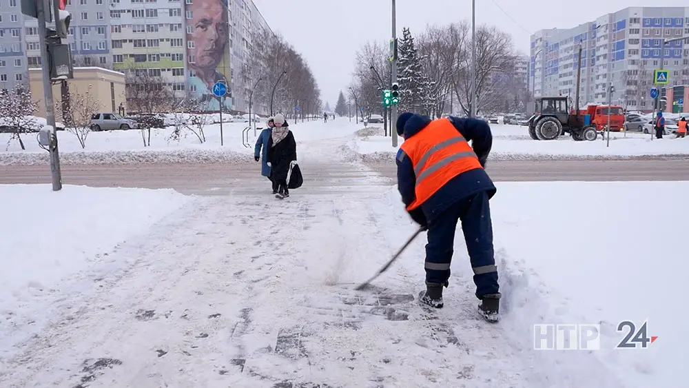
[[[193,94],[220,109],[212,85],[225,81],[224,110],[245,112],[245,65],[254,31],[269,27],[251,0],[68,0],[74,63],[162,80],[178,97]],[[25,84],[41,66],[37,21],[19,0],[0,0],[0,88]],[[140,87],[145,87],[140,85]]]

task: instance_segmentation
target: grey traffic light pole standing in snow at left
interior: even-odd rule
[[[55,2],[54,2],[55,3]],[[56,24],[59,23],[59,12],[57,12],[57,5],[54,6],[54,19]],[[38,32],[39,32],[39,42],[41,45],[41,58],[43,58],[41,64],[41,73],[43,75],[43,102],[45,103],[45,121],[48,125],[52,127],[50,136],[50,145],[48,146],[48,152],[50,152],[50,178],[52,180],[52,190],[54,192],[62,190],[62,174],[60,171],[60,153],[57,148],[57,130],[55,128],[55,111],[54,111],[54,101],[52,98],[52,83],[50,83],[50,63],[48,62],[48,42],[46,37],[48,36],[48,28],[45,26],[45,12],[50,12],[50,10],[45,10],[42,0],[36,1],[37,19],[38,19]]]

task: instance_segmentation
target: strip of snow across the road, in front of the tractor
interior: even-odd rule
[[[493,150],[491,160],[514,159],[618,159],[635,156],[687,156],[689,141],[675,139],[675,135],[664,139],[652,139],[650,134],[639,132],[610,132],[610,147],[607,137],[597,141],[573,141],[571,136],[561,136],[556,141],[535,141],[528,136],[526,127],[519,125],[491,124]],[[398,147],[404,139],[398,136]],[[360,159],[364,161],[394,161],[398,148],[392,146],[390,136],[384,136],[383,127],[369,125],[360,130],[349,142]]]

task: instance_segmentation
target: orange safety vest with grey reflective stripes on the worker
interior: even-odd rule
[[[416,199],[407,206],[409,211],[431,198],[455,176],[483,168],[471,145],[447,118],[431,121],[404,140],[400,148],[411,159],[416,176]]]

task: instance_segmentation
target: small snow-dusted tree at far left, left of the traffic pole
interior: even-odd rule
[[[26,150],[21,134],[38,129],[37,119],[33,114],[38,110],[38,104],[31,99],[31,92],[23,88],[0,91],[0,121],[12,131],[8,146],[12,140],[17,140],[22,150]]]

